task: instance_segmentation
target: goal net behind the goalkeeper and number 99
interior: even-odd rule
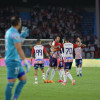
[[[32,47],[36,45],[37,39],[25,39],[24,43],[22,44],[22,48],[26,57],[31,57],[31,50]],[[47,52],[50,51],[49,42],[53,41],[53,39],[41,39],[42,45],[46,47]],[[5,39],[0,39],[0,58],[5,57]]]

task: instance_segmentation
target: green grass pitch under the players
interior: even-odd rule
[[[27,84],[18,100],[100,100],[100,67],[84,67],[83,77],[76,77],[75,67],[70,72],[76,80],[75,86],[72,86],[69,79],[66,86],[57,83],[59,80],[58,71],[53,79],[56,83],[44,84],[40,69],[38,71],[39,84],[35,85],[33,84],[34,68],[31,68],[31,71],[26,74]],[[0,100],[4,100],[6,82],[6,68],[0,67]]]

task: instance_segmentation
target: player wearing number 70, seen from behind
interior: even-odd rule
[[[72,85],[75,85],[75,80],[73,79],[69,70],[71,70],[72,62],[73,62],[73,48],[78,47],[77,44],[70,43],[69,37],[65,38],[65,43],[61,45],[64,50],[64,69],[65,69],[65,76],[63,85],[66,85],[67,77],[72,81]]]

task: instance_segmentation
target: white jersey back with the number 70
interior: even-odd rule
[[[73,62],[73,44],[72,43],[64,43],[63,44],[64,48],[64,62]]]

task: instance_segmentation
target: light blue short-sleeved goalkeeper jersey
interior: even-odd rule
[[[14,27],[9,28],[5,34],[5,61],[16,60],[20,61],[19,54],[14,43],[21,42],[20,34]]]

